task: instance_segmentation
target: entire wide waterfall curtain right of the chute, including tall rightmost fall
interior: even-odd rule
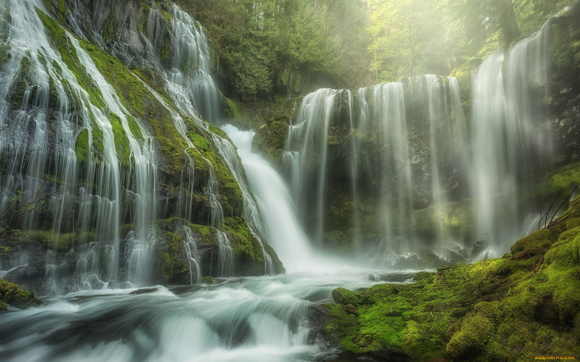
[[[504,253],[534,210],[523,196],[552,164],[542,105],[549,24],[506,56],[498,50],[485,58],[473,74],[469,122],[450,76],[382,83],[355,97],[332,89],[308,94],[289,125],[283,161],[313,239],[347,237],[358,251],[361,243],[380,244],[383,251],[371,254],[387,255],[378,257],[387,265],[405,253],[440,255],[438,247],[474,243],[483,252],[473,259]],[[329,194],[331,173],[350,184],[351,207],[342,210],[348,230],[325,221],[338,207],[332,198],[341,197]]]

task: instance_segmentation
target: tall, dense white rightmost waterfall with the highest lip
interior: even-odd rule
[[[536,34],[485,58],[473,75],[473,189],[478,237],[499,256],[523,230],[532,206],[519,198],[551,163],[545,107],[547,21]],[[532,96],[531,91],[538,94]],[[539,91],[539,92],[538,92]]]

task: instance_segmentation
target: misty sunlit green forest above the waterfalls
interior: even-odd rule
[[[538,31],[572,3],[224,0],[177,5],[211,36],[222,91],[252,103],[322,86],[356,89],[421,74],[454,76],[469,61]]]

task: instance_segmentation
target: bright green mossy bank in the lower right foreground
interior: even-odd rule
[[[571,209],[577,206],[578,199]],[[357,306],[358,318],[340,324],[348,316],[340,313],[342,305],[321,306],[328,318],[322,331],[353,353],[379,358],[401,354],[418,362],[433,357],[523,362],[539,355],[573,356],[580,319],[577,228],[532,233],[512,247],[534,249],[528,254],[444,266],[434,276],[421,272],[415,284],[335,290],[337,302]]]

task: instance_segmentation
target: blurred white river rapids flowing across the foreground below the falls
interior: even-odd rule
[[[336,287],[376,284],[380,270],[231,278],[173,292],[85,291],[0,319],[3,361],[263,361],[332,359],[311,332],[310,306]],[[412,274],[411,274],[412,275]],[[403,281],[408,275],[393,274]]]

